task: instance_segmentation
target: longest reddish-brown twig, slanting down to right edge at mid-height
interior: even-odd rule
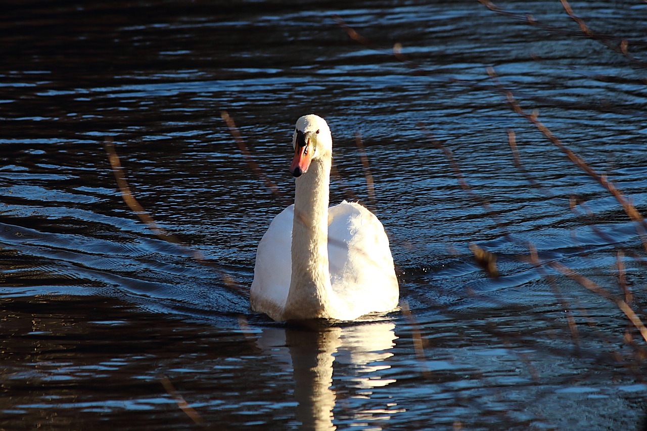
[[[529,114],[526,111],[523,110],[519,102],[517,102],[516,98],[512,95],[512,93],[503,87],[501,82],[499,81],[499,76],[496,74],[494,71],[493,67],[488,67],[487,72],[490,75],[490,78],[496,83],[497,87],[499,88],[499,91],[501,93],[505,94],[506,100],[510,107],[512,107],[512,110],[516,112],[518,115],[522,116],[523,118],[526,118],[531,122],[545,137],[547,137],[557,148],[562,150],[563,153],[565,153],[566,157],[568,157],[571,162],[573,162],[576,166],[578,166],[580,169],[582,169],[584,172],[589,175],[589,177],[595,179],[597,182],[600,183],[600,185],[615,197],[615,199],[620,203],[620,206],[622,206],[622,209],[624,212],[627,214],[627,216],[631,219],[631,221],[635,222],[635,228],[636,232],[641,238],[642,245],[644,246],[644,249],[647,250],[647,238],[646,238],[646,229],[647,229],[647,223],[645,223],[644,218],[640,214],[640,212],[636,209],[635,206],[630,202],[627,197],[625,197],[624,193],[613,184],[613,182],[609,181],[608,177],[606,175],[601,175],[600,173],[597,173],[597,171],[593,170],[591,168],[586,160],[582,159],[582,157],[578,156],[573,150],[567,148],[562,141],[554,135],[554,133],[549,129],[545,124],[543,124],[539,118],[538,118],[538,113],[534,111],[533,113]]]

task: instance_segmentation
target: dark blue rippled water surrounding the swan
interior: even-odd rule
[[[642,429],[645,340],[583,285],[646,320],[637,225],[486,67],[644,212],[647,5],[573,3],[592,38],[559,2],[497,6],[7,5],[1,428]],[[302,328],[248,309],[256,245],[293,193],[292,127],[311,112],[333,131],[331,201],[359,199],[388,230],[403,311]],[[124,204],[105,137],[185,247]],[[496,254],[499,278],[470,243]]]

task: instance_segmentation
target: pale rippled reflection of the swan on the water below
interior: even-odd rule
[[[371,388],[394,382],[378,374],[390,368],[380,362],[393,355],[387,351],[395,346],[393,341],[397,337],[393,329],[392,322],[318,329],[272,327],[263,329],[258,346],[292,365],[294,397],[298,402],[296,418],[302,429],[334,430],[334,360],[351,366],[354,375],[350,381],[363,390],[362,397],[370,397]],[[363,412],[353,415],[367,419]],[[389,417],[382,414],[380,419]]]

